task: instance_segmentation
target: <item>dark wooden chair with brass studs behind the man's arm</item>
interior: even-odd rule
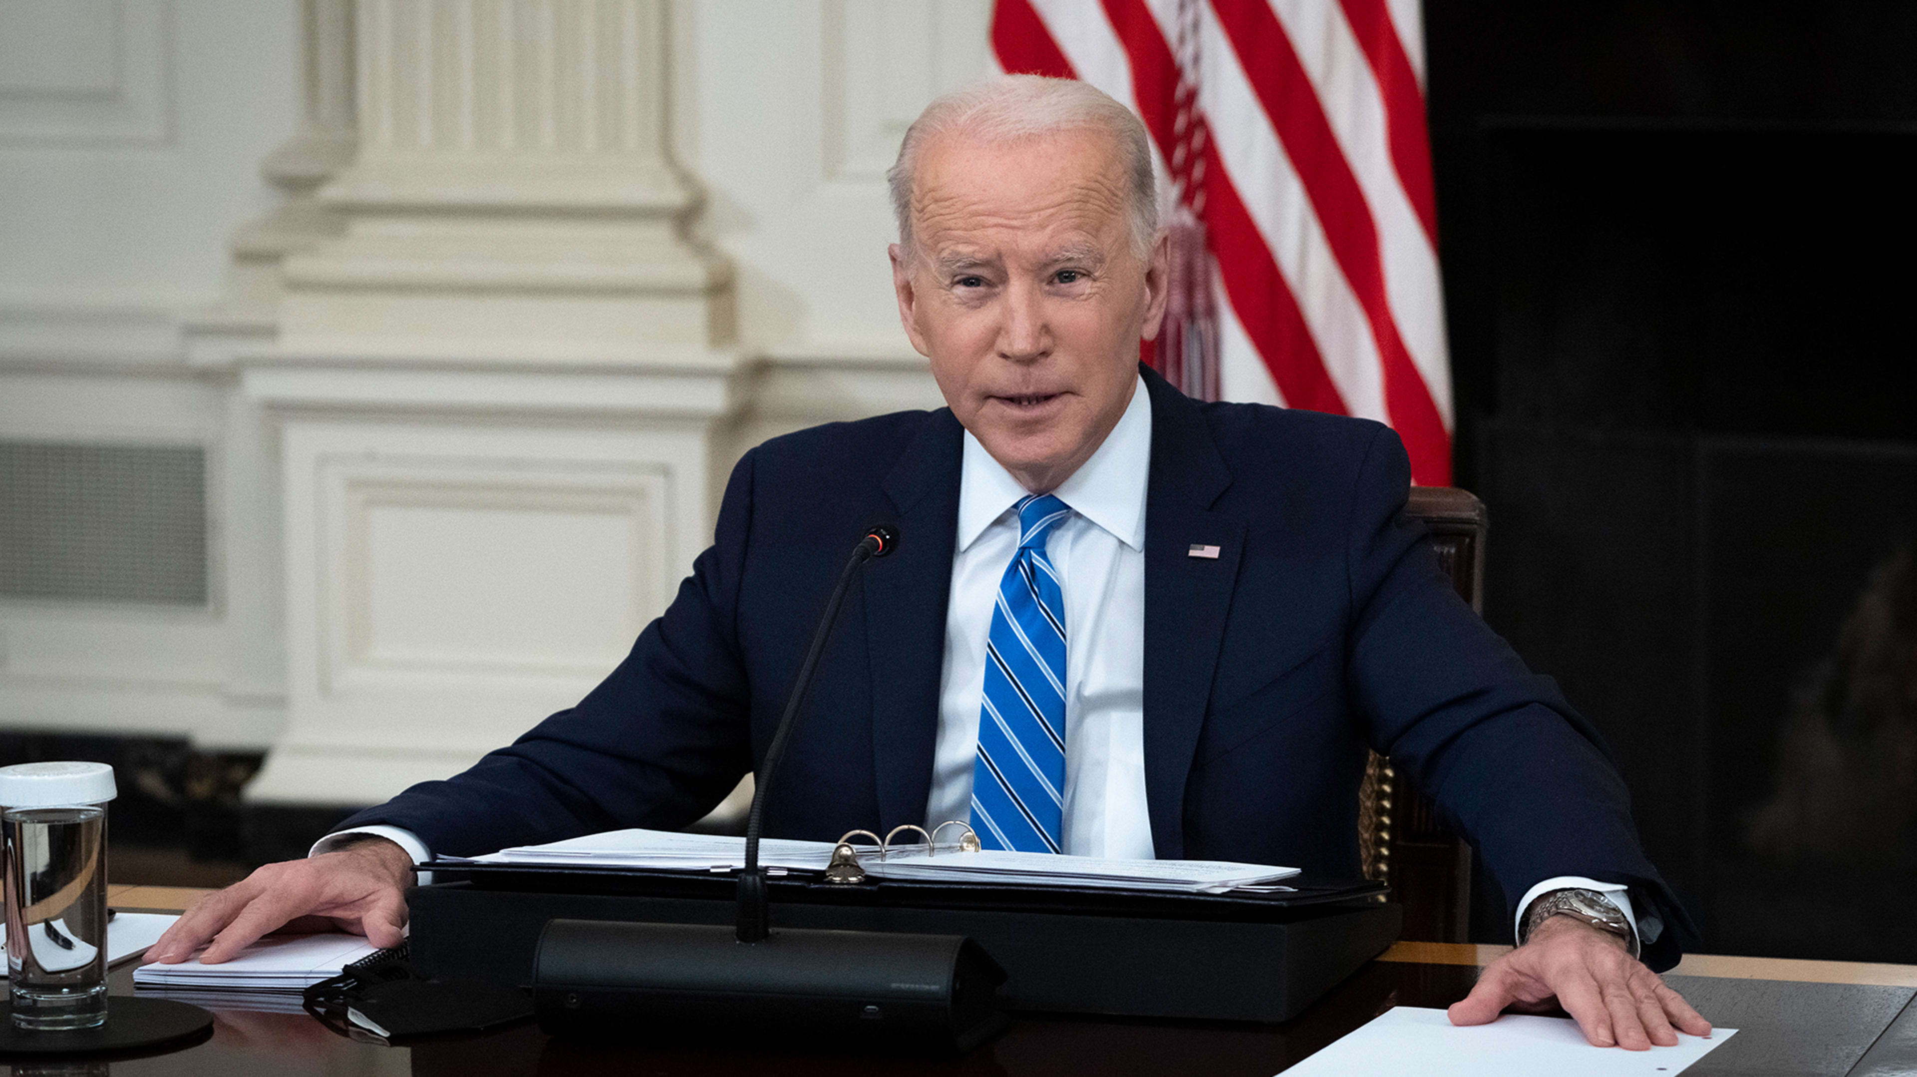
[[[1484,602],[1486,514],[1470,491],[1413,487],[1405,512],[1430,529],[1457,592]],[[1357,851],[1365,878],[1392,885],[1405,906],[1405,939],[1465,943],[1470,933],[1470,845],[1438,820],[1438,807],[1371,753],[1357,791]]]

